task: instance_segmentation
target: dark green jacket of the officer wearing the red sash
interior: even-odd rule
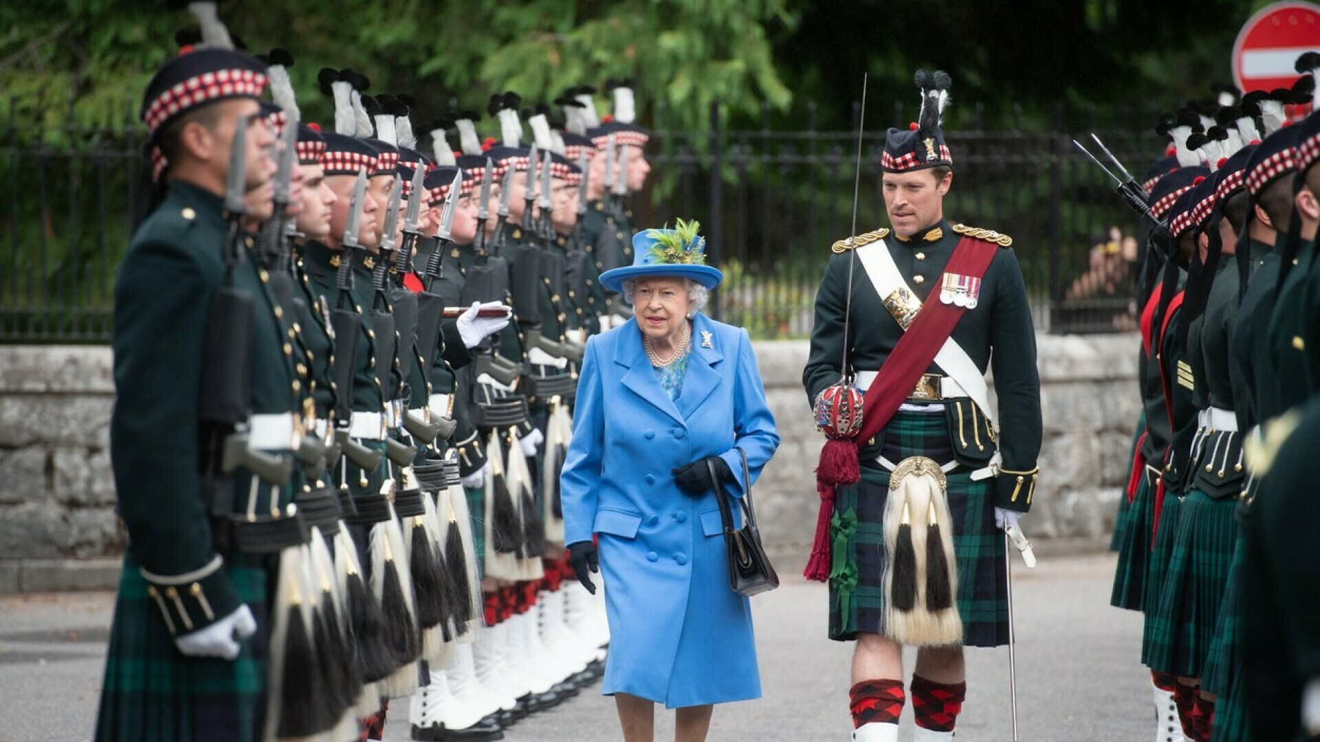
[[[883,232],[887,234],[887,230]],[[883,236],[883,235],[882,235]],[[904,242],[894,236],[884,244],[899,272],[925,301],[931,290],[940,285],[944,267],[961,240],[948,220]],[[816,396],[840,380],[840,362],[843,353],[845,306],[849,296],[849,250],[832,255],[816,294],[816,322],[812,330],[810,353],[803,370],[807,397]],[[876,371],[888,358],[903,327],[890,316],[875,287],[861,265],[853,267],[851,283],[851,350],[849,360],[855,371]],[[983,374],[994,370],[995,392],[999,405],[999,452],[1002,469],[1012,473],[1032,473],[1040,453],[1040,376],[1036,370],[1036,335],[1027,304],[1027,289],[1011,248],[1002,248],[991,260],[981,281],[978,305],[958,320],[952,338],[962,346],[977,368]],[[939,301],[939,300],[936,300]],[[991,350],[994,351],[991,354]],[[932,362],[932,374],[944,371]],[[879,455],[883,434],[861,446],[862,461]],[[1014,498],[1018,489],[1014,477],[999,477],[995,482],[995,504],[1026,511],[1030,498]]]

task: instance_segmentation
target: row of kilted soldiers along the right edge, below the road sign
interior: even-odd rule
[[[1320,54],[1296,69],[1167,114],[1166,157],[1119,186],[1150,238],[1111,603],[1144,613],[1162,742],[1320,734]]]

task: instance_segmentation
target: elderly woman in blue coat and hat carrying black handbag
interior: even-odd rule
[[[664,702],[677,709],[675,738],[700,742],[713,704],[760,697],[751,607],[729,588],[715,498],[746,492],[779,434],[747,331],[701,314],[723,276],[705,264],[697,223],[632,244],[632,265],[601,275],[636,322],[587,342],[564,540],[582,585],[594,594],[599,570],[607,586],[603,693],[624,739],[651,741]]]

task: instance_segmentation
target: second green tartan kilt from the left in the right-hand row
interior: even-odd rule
[[[1159,617],[1150,643],[1150,668],[1201,677],[1224,603],[1237,520],[1233,498],[1212,499],[1191,490],[1179,506]]]

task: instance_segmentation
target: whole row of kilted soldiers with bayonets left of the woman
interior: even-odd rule
[[[593,681],[558,471],[586,337],[626,321],[649,165],[611,83],[413,125],[408,95],[235,49],[214,4],[141,118],[161,201],[115,289],[129,544],[96,739],[498,739]],[[272,99],[265,100],[269,84]],[[457,131],[459,148],[447,136]]]

